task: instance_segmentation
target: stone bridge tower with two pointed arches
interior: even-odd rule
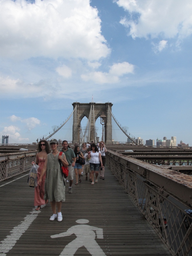
[[[90,115],[90,110],[92,109],[91,112],[91,136],[90,136],[90,141],[95,141],[94,138],[94,122],[96,122],[97,118],[102,115],[102,113],[106,116],[105,118],[105,143],[110,143],[112,142],[112,116],[111,116],[111,108],[113,106],[112,103],[95,103],[95,102],[90,102],[90,103],[79,103],[79,102],[74,102],[73,104],[73,109],[76,108],[76,111],[74,112],[73,115],[73,143],[79,142],[80,139],[80,123],[83,117],[87,117],[89,119]],[[109,110],[110,108],[110,110]],[[94,111],[93,111],[94,109]],[[94,113],[94,114],[93,114]],[[89,141],[89,142],[90,142]],[[96,141],[95,141],[96,142]]]

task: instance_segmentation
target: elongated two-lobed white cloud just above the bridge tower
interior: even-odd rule
[[[133,73],[134,65],[128,62],[114,63],[110,67],[109,72],[90,72],[86,75],[81,75],[84,81],[94,81],[98,84],[104,83],[118,83],[119,77],[125,74]]]

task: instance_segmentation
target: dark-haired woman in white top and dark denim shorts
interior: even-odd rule
[[[97,177],[99,174],[99,164],[101,163],[101,166],[103,166],[102,159],[101,159],[101,152],[98,150],[95,143],[91,145],[91,151],[88,153],[88,158],[91,158],[90,163],[90,169],[91,169],[91,178],[92,178],[92,185],[94,185],[94,173],[95,173],[95,182],[97,183]]]

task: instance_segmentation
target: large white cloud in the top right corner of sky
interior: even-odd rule
[[[117,0],[129,12],[121,24],[130,29],[133,38],[185,38],[192,34],[191,0]]]

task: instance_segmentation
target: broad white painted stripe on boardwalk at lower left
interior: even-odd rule
[[[41,207],[44,207],[44,206],[45,205],[42,205]],[[16,244],[17,240],[19,240],[19,238],[23,235],[23,233],[25,233],[25,231],[32,224],[32,222],[37,218],[40,212],[41,211],[36,211],[34,208],[32,212],[30,212],[31,214],[28,214],[24,218],[24,221],[21,221],[21,224],[19,224],[16,227],[13,227],[13,229],[10,231],[11,235],[7,235],[7,237],[0,242],[1,243],[0,256],[6,256],[6,253],[12,249],[12,247]]]

